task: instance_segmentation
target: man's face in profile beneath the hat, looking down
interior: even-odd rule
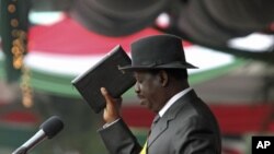
[[[140,104],[158,112],[165,103],[159,75],[147,71],[135,71],[134,75],[136,78],[135,92],[140,99]]]

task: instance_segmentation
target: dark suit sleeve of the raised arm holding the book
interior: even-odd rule
[[[111,154],[139,154],[141,151],[137,139],[123,119],[107,128],[100,129],[99,133]]]

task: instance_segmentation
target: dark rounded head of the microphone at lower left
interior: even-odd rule
[[[64,128],[64,122],[57,116],[53,116],[48,118],[45,122],[43,122],[39,128],[45,132],[48,139],[54,138],[59,131]]]

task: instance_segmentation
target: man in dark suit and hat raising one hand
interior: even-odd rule
[[[140,38],[132,44],[130,66],[135,92],[140,104],[156,112],[147,143],[138,144],[123,121],[117,102],[102,87],[106,100],[99,130],[111,154],[220,154],[218,123],[187,82],[186,69],[196,67],[185,61],[182,39],[173,35]]]

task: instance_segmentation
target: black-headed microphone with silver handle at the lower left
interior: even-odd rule
[[[61,119],[57,116],[48,118],[39,126],[37,131],[31,139],[28,139],[23,145],[16,149],[12,154],[26,154],[35,145],[44,141],[45,139],[54,138],[64,128]]]

